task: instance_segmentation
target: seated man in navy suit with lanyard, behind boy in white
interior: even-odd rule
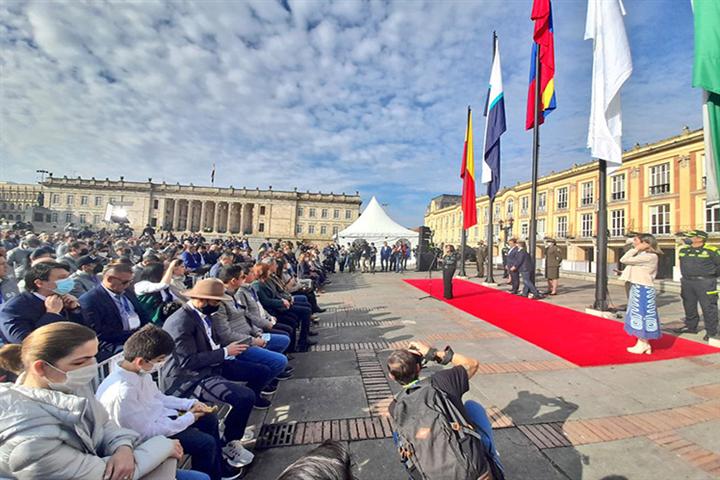
[[[121,352],[130,335],[150,322],[135,292],[128,288],[132,281],[130,265],[111,263],[100,285],[80,297],[80,306],[98,333],[101,357]]]

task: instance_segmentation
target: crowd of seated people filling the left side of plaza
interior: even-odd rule
[[[243,476],[251,412],[316,343],[320,256],[199,234],[0,232],[0,477]],[[176,471],[184,454],[192,470]]]

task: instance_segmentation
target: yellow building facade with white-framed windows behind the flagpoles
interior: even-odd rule
[[[492,225],[496,245],[510,237],[527,239],[530,189],[530,182],[525,182],[498,192]],[[542,239],[554,238],[563,250],[564,269],[594,272],[598,192],[597,162],[538,180],[538,258],[543,254]],[[622,166],[607,178],[611,269],[622,255],[627,234],[652,233],[665,253],[658,278],[677,278],[677,232],[699,228],[720,237],[720,208],[708,208],[705,198],[702,130],[686,129],[678,136],[627,150]],[[478,225],[468,231],[472,246],[488,238],[487,196],[478,199],[477,208]],[[435,243],[460,243],[460,205],[433,208],[431,203],[425,224],[433,230]]]

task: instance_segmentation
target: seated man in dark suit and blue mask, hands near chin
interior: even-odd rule
[[[70,321],[88,325],[75,297],[69,295],[73,281],[67,265],[41,262],[28,269],[28,291],[12,297],[0,310],[0,337],[5,343],[21,343],[38,327]]]

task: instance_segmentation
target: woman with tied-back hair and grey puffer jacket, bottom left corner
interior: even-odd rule
[[[118,427],[95,399],[98,340],[89,328],[57,322],[22,345],[0,349],[0,477],[74,480],[174,479],[182,448],[175,440]],[[22,369],[22,371],[20,371]]]

